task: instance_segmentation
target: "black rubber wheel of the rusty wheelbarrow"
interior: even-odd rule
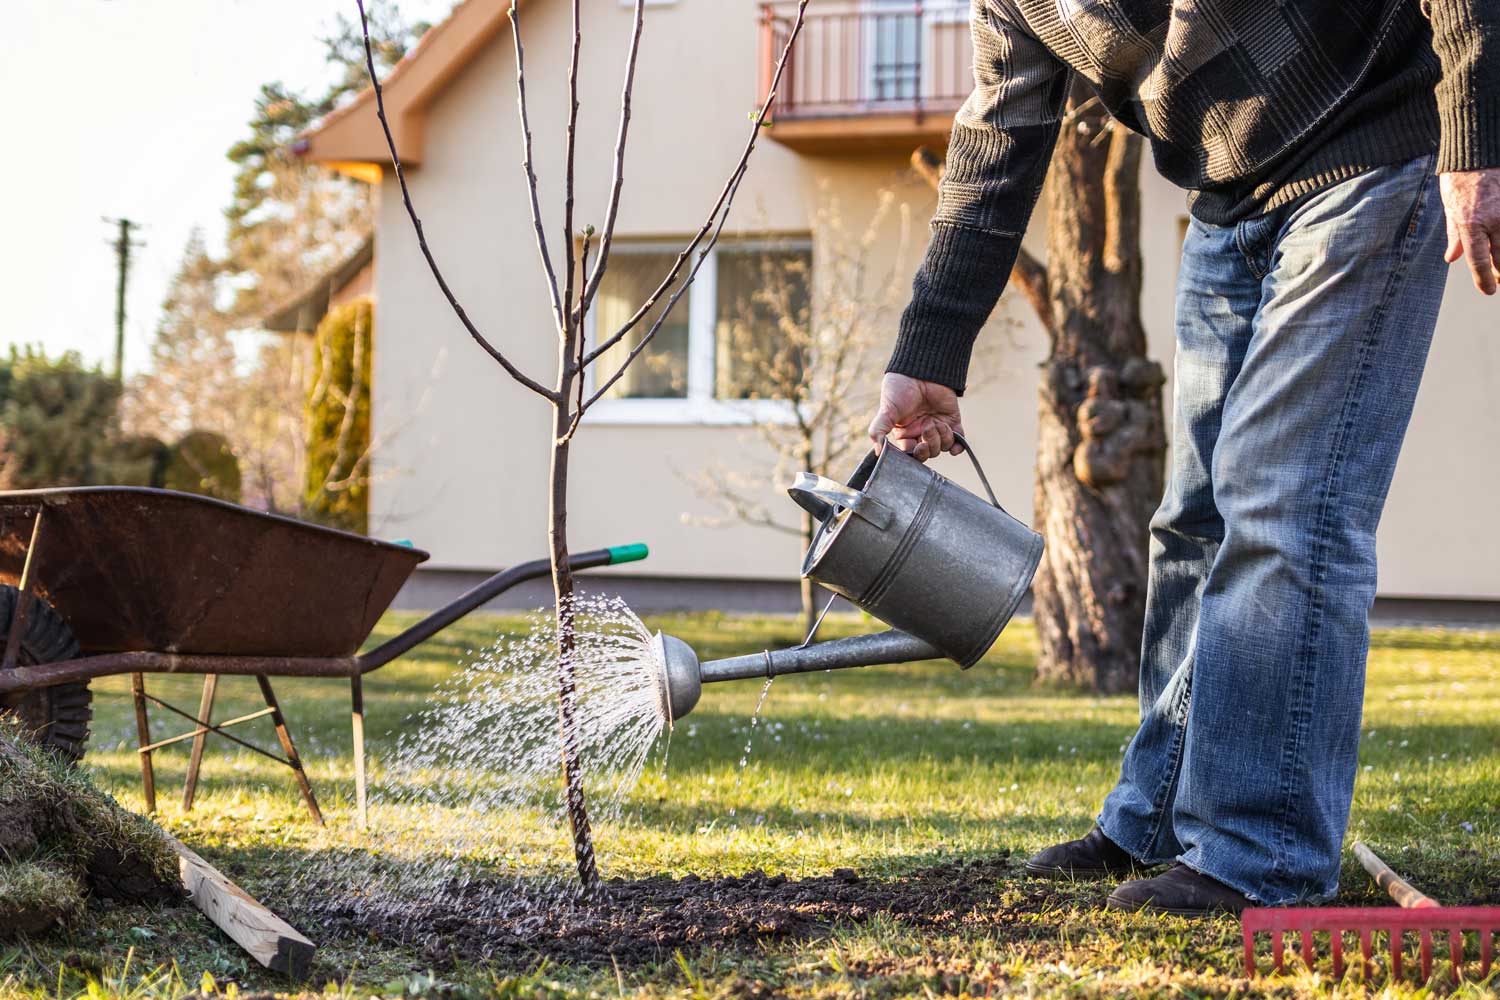
[[[0,585],[0,649],[10,634],[16,601],[21,592]],[[26,670],[44,663],[72,660],[78,655],[78,640],[68,622],[42,598],[34,598],[26,616],[26,634],[16,655],[16,669]],[[10,712],[36,742],[69,762],[80,762],[88,744],[88,723],[93,720],[93,693],[88,682],[58,684],[34,688],[26,694],[0,700],[0,712]]]

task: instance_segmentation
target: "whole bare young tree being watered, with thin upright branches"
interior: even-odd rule
[[[570,444],[573,441],[573,435],[578,432],[579,421],[584,418],[584,414],[590,406],[598,402],[615,385],[615,382],[624,376],[626,369],[628,369],[630,364],[640,357],[640,352],[651,343],[652,337],[662,328],[662,324],[670,315],[672,307],[692,285],[693,277],[698,274],[698,268],[702,265],[708,252],[712,250],[714,244],[718,241],[718,235],[723,232],[724,222],[729,217],[729,208],[734,204],[735,193],[740,190],[740,181],[744,180],[746,169],[748,168],[750,154],[754,151],[756,139],[760,135],[760,129],[766,126],[771,105],[776,102],[776,91],[782,82],[782,72],[786,67],[786,58],[801,33],[808,0],[798,1],[796,18],[788,33],[786,43],[782,48],[782,55],[771,76],[765,99],[760,103],[760,108],[752,115],[750,136],[740,154],[738,163],[730,171],[717,201],[710,210],[708,217],[704,220],[704,225],[698,229],[687,246],[682,247],[681,253],[676,255],[672,267],[662,279],[662,283],[657,285],[656,291],[652,291],[640,307],[616,330],[602,330],[598,342],[592,348],[588,346],[588,340],[585,337],[585,322],[588,310],[594,304],[594,297],[598,292],[598,285],[604,277],[606,268],[609,267],[609,252],[615,235],[615,219],[620,213],[620,196],[624,189],[626,142],[630,132],[630,103],[634,91],[636,60],[640,52],[640,31],[645,25],[646,0],[634,0],[630,45],[626,51],[624,85],[620,97],[620,127],[615,138],[614,172],[609,187],[609,201],[604,208],[603,228],[596,229],[592,225],[586,225],[582,226],[582,231],[578,225],[574,225],[576,220],[573,217],[573,205],[579,103],[578,69],[579,52],[584,43],[584,19],[579,10],[580,0],[572,0],[570,3],[572,46],[567,58],[568,102],[567,130],[564,138],[566,153],[562,175],[561,267],[554,265],[554,247],[546,237],[546,229],[542,220],[537,175],[532,165],[531,118],[526,103],[525,46],[520,34],[520,9],[516,0],[512,0],[508,13],[512,24],[512,42],[514,45],[516,57],[516,103],[520,123],[522,166],[525,171],[526,189],[531,196],[531,222],[532,229],[536,231],[537,255],[542,261],[548,295],[552,304],[552,321],[555,327],[554,334],[556,337],[556,373],[550,384],[543,384],[518,369],[510,358],[507,358],[506,354],[500,351],[478,330],[478,327],[474,325],[474,322],[468,318],[468,313],[453,295],[453,291],[448,288],[442,271],[438,268],[436,259],[428,247],[428,240],[423,235],[422,219],[417,216],[417,210],[411,204],[406,174],[402,169],[400,156],[396,151],[396,139],[392,135],[390,123],[386,118],[386,97],[381,88],[380,73],[375,67],[375,51],[369,40],[369,21],[364,13],[364,0],[356,0],[356,3],[360,9],[360,22],[364,31],[366,70],[369,73],[370,85],[375,90],[375,108],[380,117],[381,129],[386,135],[387,150],[390,151],[392,169],[396,174],[402,204],[411,219],[417,243],[429,270],[432,271],[432,277],[438,283],[438,288],[442,291],[448,304],[453,307],[453,313],[458,316],[459,322],[464,324],[464,328],[474,339],[474,342],[519,385],[542,397],[542,400],[552,408],[552,430],[549,432],[552,462],[548,534],[550,540],[552,594],[558,634],[558,721],[562,750],[562,775],[566,783],[568,825],[573,834],[573,856],[578,862],[579,883],[585,894],[594,894],[598,888],[598,870],[594,862],[594,844],[588,826],[588,807],[584,801],[582,772],[578,760],[579,741],[574,724],[574,588],[573,571],[568,565],[567,541]],[[592,261],[590,261],[591,250],[596,250]],[[558,271],[561,271],[561,280]],[[660,309],[657,309],[658,304]],[[630,337],[628,342],[627,337]],[[618,366],[614,361],[614,355],[609,355],[610,348],[616,345],[628,346],[626,357],[618,363]],[[606,355],[609,360],[600,364],[600,360]],[[614,370],[610,370],[610,367],[614,367]],[[592,391],[590,391],[585,385],[585,375],[591,369],[594,369],[596,373]]]

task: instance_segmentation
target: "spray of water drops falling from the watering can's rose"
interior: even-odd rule
[[[666,724],[646,627],[618,598],[585,597],[574,609],[578,757],[608,877],[610,828]],[[405,720],[372,769],[370,829],[324,835],[302,903],[374,909],[388,925],[514,915],[573,894],[556,691],[556,625],[537,613]]]

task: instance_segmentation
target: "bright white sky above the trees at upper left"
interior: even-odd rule
[[[384,0],[368,0],[382,3]],[[402,0],[438,21],[452,0]],[[262,82],[327,76],[318,39],[354,0],[6,0],[0,303],[9,343],[114,357],[114,231],[144,223],[126,306],[138,369],[192,226],[222,247],[230,144]]]

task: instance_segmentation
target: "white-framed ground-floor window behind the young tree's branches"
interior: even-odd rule
[[[681,243],[616,240],[591,315],[591,339],[618,330],[672,270]],[[720,241],[636,361],[590,411],[608,423],[744,423],[784,409],[801,376],[812,321],[812,243]],[[688,267],[684,264],[682,276]],[[678,285],[681,286],[681,285]],[[591,378],[608,378],[639,346],[670,292],[606,351]],[[762,408],[756,412],[756,408]]]

